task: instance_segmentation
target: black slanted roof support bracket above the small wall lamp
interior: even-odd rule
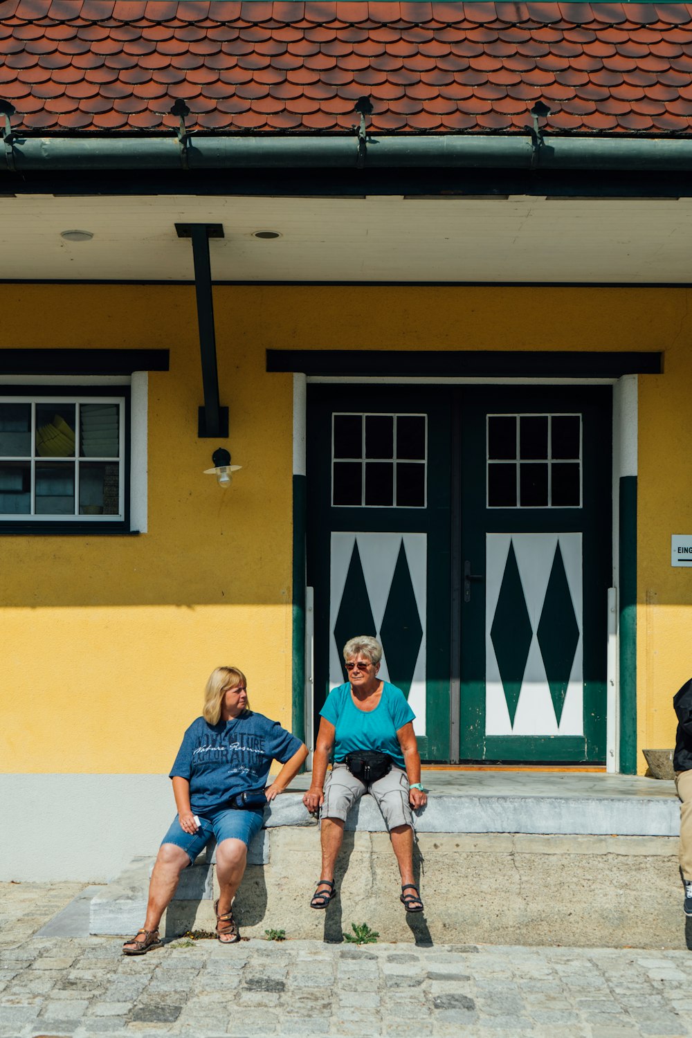
[[[176,113],[177,114],[177,113]],[[204,406],[199,408],[197,436],[214,438],[228,436],[228,408],[219,404],[219,370],[216,360],[214,302],[212,299],[212,265],[210,238],[223,238],[221,223],[176,223],[178,238],[192,239],[192,261],[195,269],[199,356],[202,365]]]

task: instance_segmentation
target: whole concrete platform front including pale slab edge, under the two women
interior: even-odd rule
[[[388,940],[685,947],[672,783],[636,776],[428,772],[417,818],[416,868],[426,911],[407,916],[389,837],[370,796],[347,823],[337,896],[308,902],[320,877],[316,822],[301,776],[267,811],[234,911],[244,933],[285,929],[339,939],[367,922]],[[298,787],[298,788],[297,788]],[[213,929],[215,870],[202,855],[183,874],[164,928]],[[141,926],[153,857],[135,858],[92,899],[92,933]]]

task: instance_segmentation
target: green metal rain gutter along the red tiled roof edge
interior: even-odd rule
[[[3,146],[4,145],[4,146]],[[489,134],[222,137],[21,137],[0,139],[0,172],[105,169],[692,170],[692,139],[501,137]]]

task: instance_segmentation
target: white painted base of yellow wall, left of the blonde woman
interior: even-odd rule
[[[4,774],[0,880],[103,883],[156,855],[175,817],[166,775]]]

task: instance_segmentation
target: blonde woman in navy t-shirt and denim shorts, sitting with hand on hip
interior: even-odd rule
[[[206,682],[202,716],[185,733],[170,771],[177,815],[154,866],[144,926],[124,943],[124,955],[144,955],[161,947],[159,924],[181,873],[212,838],[217,841],[220,887],[214,903],[217,937],[226,945],[240,940],[231,905],[248,846],[261,828],[265,804],[283,792],[306,757],[300,739],[250,710],[243,672],[217,666]],[[273,760],[283,767],[265,788]]]

